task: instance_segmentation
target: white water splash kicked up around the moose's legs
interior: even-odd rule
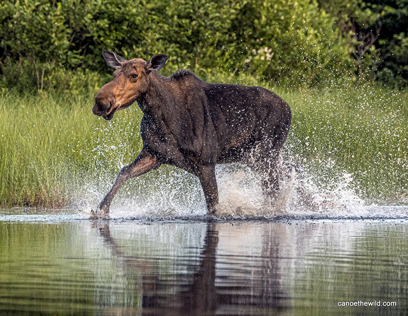
[[[355,193],[352,174],[343,173],[324,187],[296,165],[279,165],[283,179],[274,197],[266,196],[256,173],[241,164],[217,165],[220,204],[215,217],[229,219],[405,218],[408,207],[367,205]],[[113,179],[111,179],[113,181]],[[106,182],[106,190],[110,181]],[[97,187],[100,188],[100,185]],[[86,187],[73,205],[90,214],[102,194]],[[163,166],[129,180],[111,205],[111,218],[206,218],[207,208],[196,177],[181,169]]]

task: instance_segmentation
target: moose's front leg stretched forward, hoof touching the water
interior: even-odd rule
[[[99,203],[96,212],[93,210],[92,217],[95,218],[108,218],[109,217],[109,207],[116,192],[122,186],[122,184],[130,178],[141,176],[151,169],[157,169],[160,166],[160,162],[150,155],[146,151],[141,151],[139,156],[131,164],[124,166],[116,177],[115,183],[113,184],[109,193],[105,196],[102,202]]]

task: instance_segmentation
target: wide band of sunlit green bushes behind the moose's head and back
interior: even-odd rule
[[[7,0],[0,5],[0,86],[65,90],[70,71],[111,72],[104,49],[128,59],[165,53],[167,74],[192,68],[203,79],[245,72],[327,85],[352,64],[334,21],[310,0]]]

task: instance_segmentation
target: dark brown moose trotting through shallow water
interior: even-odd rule
[[[106,120],[137,102],[143,117],[143,148],[124,166],[93,217],[108,218],[111,202],[121,185],[162,164],[195,175],[202,186],[209,214],[218,205],[215,165],[240,162],[258,173],[263,191],[279,189],[277,163],[288,136],[292,114],[278,95],[261,87],[211,84],[190,70],[164,77],[158,72],[166,55],[149,61],[126,60],[103,51],[114,79],[95,95],[92,112]]]

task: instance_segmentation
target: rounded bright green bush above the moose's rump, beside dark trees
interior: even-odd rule
[[[334,18],[316,3],[281,1],[257,8],[262,8],[254,23],[259,35],[245,60],[250,74],[303,85],[344,78],[352,65],[350,48],[334,27]]]

